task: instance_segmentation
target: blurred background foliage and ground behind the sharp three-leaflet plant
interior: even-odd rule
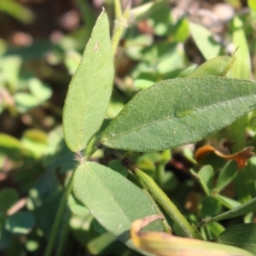
[[[124,9],[131,9],[131,15],[124,20],[127,27],[115,56],[116,75],[108,119],[113,119],[137,91],[163,79],[182,77],[184,70],[189,72],[217,55],[231,55],[237,47],[236,62],[228,76],[254,79],[255,1],[122,3]],[[75,166],[73,153],[63,139],[62,107],[67,86],[102,6],[107,10],[113,31],[113,0],[0,1],[0,251],[3,255],[44,254],[63,187]],[[200,169],[194,159],[195,149],[208,143],[228,154],[254,146],[255,125],[255,112],[249,113],[202,142],[172,151],[137,154],[134,158],[137,166],[154,177],[189,221],[196,224],[201,218],[255,197],[256,158],[234,175],[234,182],[230,180],[224,185],[222,198],[214,197],[205,195],[189,172],[191,168]],[[113,159],[111,152],[99,149],[92,159],[127,176],[126,169]],[[220,170],[229,168],[225,160],[214,154],[208,154],[201,163],[204,164],[214,170],[213,183]],[[62,246],[55,255],[137,254],[104,230],[73,196],[68,205],[57,241]],[[247,214],[244,218],[211,224],[209,232],[214,238],[224,227],[255,221],[253,214]]]

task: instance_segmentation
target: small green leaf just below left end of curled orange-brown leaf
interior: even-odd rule
[[[204,166],[198,172],[199,182],[207,195],[212,194],[213,169],[212,166]]]

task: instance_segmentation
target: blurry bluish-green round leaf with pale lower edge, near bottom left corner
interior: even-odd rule
[[[14,234],[28,234],[33,225],[35,218],[30,212],[16,212],[6,218],[5,228]]]

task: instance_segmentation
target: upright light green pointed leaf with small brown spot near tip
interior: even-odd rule
[[[67,91],[63,130],[72,151],[85,148],[102,125],[112,91],[113,72],[108,16],[103,10]]]

